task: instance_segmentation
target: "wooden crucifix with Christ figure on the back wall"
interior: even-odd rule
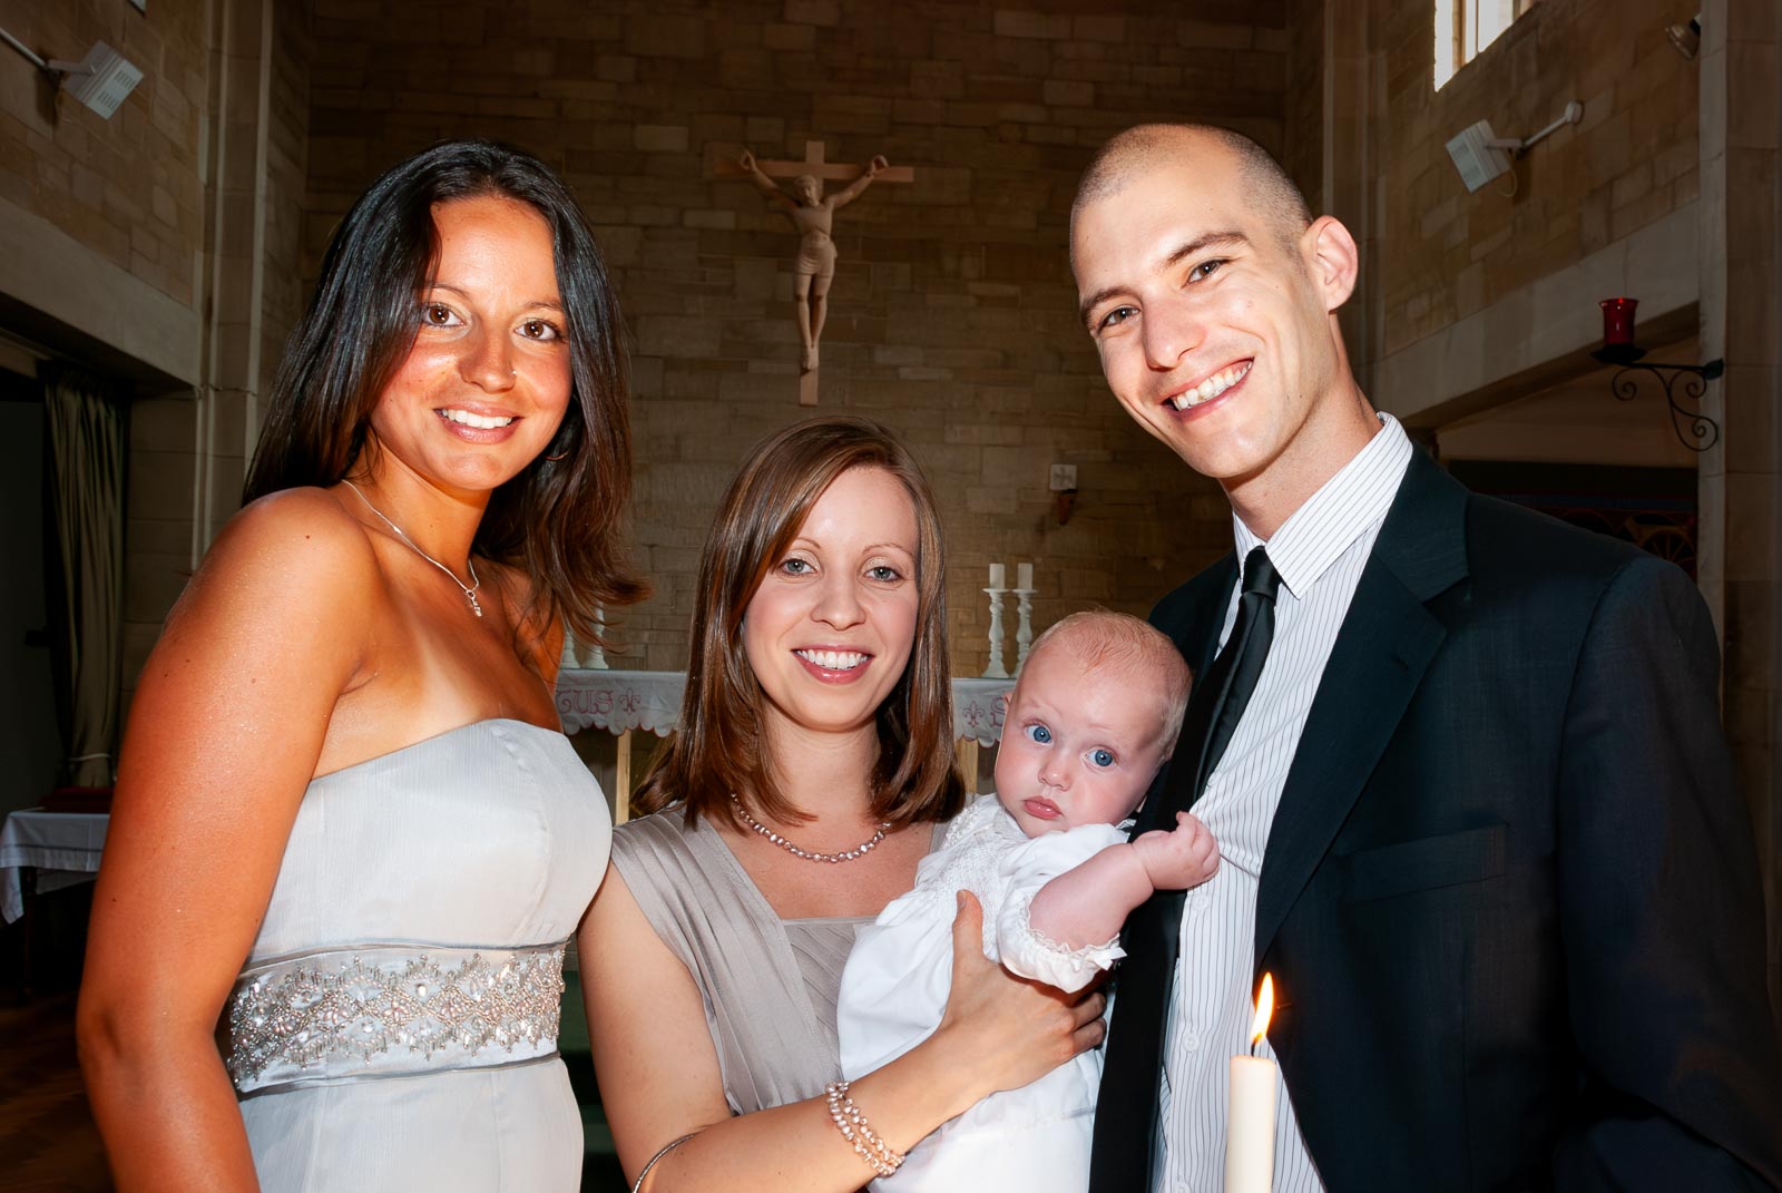
[[[914,182],[909,166],[891,166],[884,155],[866,166],[843,166],[823,160],[823,143],[805,141],[804,160],[756,160],[743,150],[736,162],[718,162],[720,177],[747,177],[768,203],[791,219],[798,230],[798,257],[793,264],[793,303],[798,314],[798,405],[816,405],[818,342],[823,339],[823,319],[829,316],[829,285],[836,276],[836,243],[830,237],[836,209],[861,196],[873,182]],[[775,178],[791,178],[791,194]],[[823,196],[823,180],[848,185]]]

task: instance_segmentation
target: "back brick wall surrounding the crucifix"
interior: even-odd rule
[[[836,218],[822,407],[903,435],[952,547],[955,671],[984,667],[985,564],[1035,562],[1035,626],[1144,612],[1230,544],[1217,489],[1133,428],[1075,323],[1066,219],[1108,134],[1217,119],[1281,148],[1283,5],[1023,7],[625,0],[317,0],[307,267],[351,198],[437,137],[513,141],[565,173],[629,321],[636,540],[656,597],[617,628],[633,667],[684,663],[699,544],[743,451],[797,405],[795,237],[743,146],[916,169]],[[1051,514],[1048,465],[1078,465]],[[1009,617],[1012,637],[1012,613]],[[1009,647],[1012,653],[1012,646]]]

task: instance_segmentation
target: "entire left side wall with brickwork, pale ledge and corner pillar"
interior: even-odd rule
[[[50,351],[141,387],[125,499],[128,704],[168,608],[239,505],[257,401],[307,296],[308,7],[0,0],[0,27],[45,57],[78,59],[103,39],[144,75],[102,119],[0,48],[0,216],[55,241],[34,273],[0,276],[0,298],[50,316],[34,328]]]

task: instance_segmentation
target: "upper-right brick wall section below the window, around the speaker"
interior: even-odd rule
[[[1385,351],[1418,341],[1696,198],[1696,78],[1664,0],[1545,0],[1431,89],[1433,5],[1386,0],[1379,300]],[[1445,143],[1475,119],[1525,137],[1568,100],[1584,119],[1468,194]]]

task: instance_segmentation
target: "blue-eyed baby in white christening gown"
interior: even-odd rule
[[[934,1033],[952,983],[955,892],[984,904],[984,952],[1012,972],[1082,990],[1124,956],[1119,929],[1153,890],[1212,877],[1206,827],[1126,840],[1121,827],[1169,760],[1189,701],[1174,644],[1137,617],[1073,613],[1034,644],[1009,699],[996,794],[968,806],[916,870],[916,888],[862,927],[836,1008],[841,1072],[854,1079]],[[1101,1081],[1092,1049],[1039,1081],[994,1093],[923,1140],[895,1193],[1089,1188]]]

